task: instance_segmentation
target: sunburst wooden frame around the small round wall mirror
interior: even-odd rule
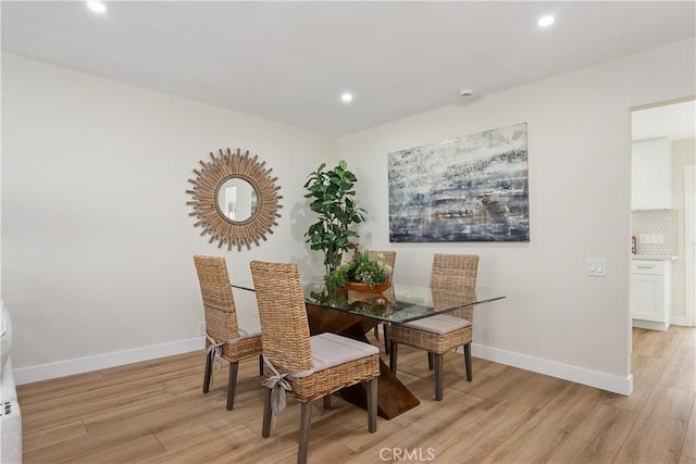
[[[264,168],[265,161],[259,163],[259,155],[249,158],[249,151],[241,154],[227,149],[219,150],[220,155],[210,153],[211,161],[200,161],[202,168],[194,170],[196,178],[188,179],[194,185],[192,190],[186,193],[192,197],[192,201],[186,204],[194,208],[189,216],[198,217],[194,227],[201,226],[201,236],[210,235],[209,243],[217,240],[217,248],[227,243],[227,250],[236,246],[241,250],[243,246],[247,250],[251,249],[251,242],[258,247],[259,239],[266,240],[265,234],[273,234],[272,227],[277,226],[276,217],[279,208],[278,200],[283,197],[277,195],[281,187],[275,186],[277,177],[271,177],[271,170]],[[217,191],[229,178],[237,177],[248,181],[257,192],[257,208],[251,216],[245,221],[236,222],[228,220],[221,213],[217,206]]]

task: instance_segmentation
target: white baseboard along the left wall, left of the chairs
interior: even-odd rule
[[[32,384],[34,381],[65,377],[90,371],[122,366],[124,364],[140,361],[154,360],[157,358],[172,356],[174,354],[189,353],[202,350],[206,347],[206,338],[197,337],[188,340],[179,340],[171,343],[154,344],[151,347],[135,348],[125,351],[98,354],[96,356],[77,358],[75,360],[58,363],[41,364],[38,366],[14,369],[16,385]],[[201,361],[202,362],[202,361]]]

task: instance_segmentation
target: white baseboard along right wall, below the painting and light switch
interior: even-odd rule
[[[587,385],[601,390],[612,391],[620,394],[631,394],[633,391],[633,374],[629,377],[618,377],[597,371],[558,363],[556,361],[540,358],[527,356],[526,354],[514,353],[512,351],[499,350],[497,348],[483,347],[472,343],[471,354],[487,361],[532,371],[538,374],[550,375],[576,384]]]

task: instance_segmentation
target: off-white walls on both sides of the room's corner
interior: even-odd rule
[[[302,240],[301,186],[340,156],[371,213],[361,242],[396,250],[398,279],[423,281],[434,252],[481,254],[480,288],[507,299],[477,311],[474,354],[627,392],[630,108],[695,95],[694,55],[694,40],[683,41],[337,143],[3,54],[2,297],[15,321],[17,380],[200,343],[192,254],[227,256],[237,280],[252,259],[320,266]],[[529,124],[529,243],[388,243],[387,153],[520,122]],[[266,160],[285,197],[275,234],[241,253],[208,244],[185,205],[191,168],[226,147]],[[586,277],[587,258],[606,259],[608,276]]]

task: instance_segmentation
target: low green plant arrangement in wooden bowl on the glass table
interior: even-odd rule
[[[371,260],[368,250],[357,251],[350,262],[341,264],[330,274],[331,281],[336,287],[374,292],[389,288],[391,266],[384,262],[384,256],[377,254],[376,260]]]

